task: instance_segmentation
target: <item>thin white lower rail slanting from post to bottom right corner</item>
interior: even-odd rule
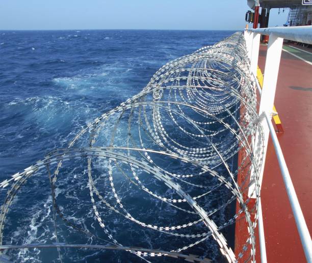
[[[269,117],[267,112],[264,112],[266,116],[266,121],[269,126],[269,130],[271,132],[271,137],[274,145],[274,149],[276,152],[278,164],[282,173],[282,178],[285,184],[286,192],[288,194],[288,198],[293,210],[294,218],[296,220],[297,229],[299,232],[301,244],[304,250],[305,258],[308,263],[312,262],[312,241],[310,237],[309,230],[305,223],[300,203],[296,195],[296,191],[292,182],[292,179],[289,174],[289,170],[287,168],[283,153],[281,151],[277,136],[275,134],[274,127],[271,123],[271,118]]]

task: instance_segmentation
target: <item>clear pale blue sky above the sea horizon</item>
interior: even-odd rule
[[[247,10],[247,0],[0,0],[0,30],[242,30]],[[271,10],[269,26],[287,15]]]

